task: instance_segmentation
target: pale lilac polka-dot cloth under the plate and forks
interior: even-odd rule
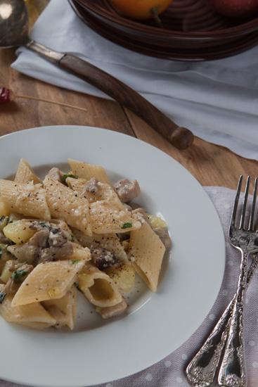
[[[224,279],[212,310],[195,331],[193,336],[180,348],[175,350],[165,359],[152,367],[138,372],[133,376],[118,381],[111,381],[98,387],[188,387],[184,370],[186,365],[195,355],[200,345],[212,331],[215,323],[221,317],[229,301],[236,291],[238,271],[240,265],[240,253],[228,243],[228,225],[231,217],[232,204],[236,191],[223,187],[206,187],[205,190],[212,199],[219,213],[221,224],[226,236],[226,266]],[[211,274],[212,276],[212,274]],[[257,387],[258,381],[258,303],[257,303],[258,277],[254,274],[252,282],[247,289],[247,306],[245,314],[245,355],[248,387]],[[204,289],[205,291],[205,289]],[[13,383],[0,381],[0,387],[18,387]],[[214,383],[217,386],[217,383]]]

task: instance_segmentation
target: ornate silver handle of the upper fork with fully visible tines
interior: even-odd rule
[[[246,386],[243,312],[247,285],[247,258],[248,250],[247,248],[243,248],[236,301],[233,306],[224,357],[219,370],[219,386],[224,387]]]

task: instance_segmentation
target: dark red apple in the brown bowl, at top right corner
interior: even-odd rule
[[[258,0],[209,0],[215,11],[230,18],[246,18],[258,12]]]

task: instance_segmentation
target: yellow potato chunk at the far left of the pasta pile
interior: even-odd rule
[[[30,228],[30,222],[17,220],[4,227],[4,235],[16,244],[27,242],[36,232]]]

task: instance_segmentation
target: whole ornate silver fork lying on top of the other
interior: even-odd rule
[[[240,274],[238,277],[238,287],[236,291],[236,300],[233,305],[232,316],[230,319],[230,326],[228,338],[226,341],[226,348],[224,357],[219,370],[218,383],[219,386],[224,387],[246,387],[247,379],[245,372],[245,351],[243,343],[244,331],[244,307],[245,307],[245,291],[247,285],[247,259],[250,253],[258,251],[257,233],[254,231],[254,210],[257,198],[257,179],[254,182],[254,192],[252,200],[252,209],[250,215],[250,222],[245,228],[245,212],[247,206],[247,197],[250,185],[250,177],[247,177],[245,186],[245,197],[240,218],[240,227],[236,226],[236,214],[238,209],[238,201],[240,196],[240,189],[242,185],[243,176],[238,182],[238,189],[236,193],[236,200],[233,207],[231,224],[229,227],[229,241],[233,247],[241,252]]]

